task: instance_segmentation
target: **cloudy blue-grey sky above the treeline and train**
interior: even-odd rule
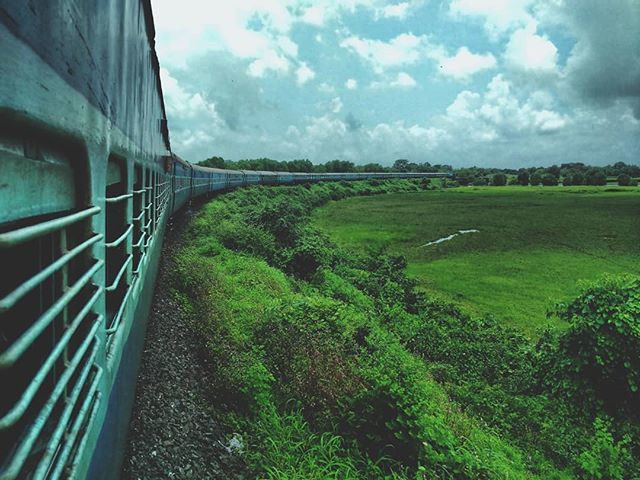
[[[640,0],[152,0],[174,153],[640,163]]]

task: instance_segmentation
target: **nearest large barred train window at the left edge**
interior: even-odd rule
[[[98,401],[100,208],[81,148],[4,131],[0,169],[0,471],[39,478],[65,468]]]

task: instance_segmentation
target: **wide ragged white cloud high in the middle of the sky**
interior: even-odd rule
[[[371,64],[377,73],[382,73],[390,67],[416,63],[426,43],[424,35],[402,33],[388,42],[351,36],[342,40],[340,46]]]

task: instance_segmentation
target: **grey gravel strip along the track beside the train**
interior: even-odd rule
[[[171,298],[173,255],[193,212],[167,226],[131,416],[124,479],[241,479],[238,437],[223,431],[210,400],[201,342]]]

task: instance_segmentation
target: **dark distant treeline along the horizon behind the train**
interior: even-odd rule
[[[639,165],[627,165],[616,162],[605,167],[593,167],[584,163],[563,163],[560,166],[531,168],[481,168],[468,167],[454,169],[451,165],[432,165],[429,162],[414,163],[406,159],[396,160],[392,166],[384,167],[379,163],[356,165],[346,160],[331,160],[313,164],[307,159],[273,160],[255,158],[251,160],[225,160],[211,157],[200,165],[231,170],[266,170],[280,172],[452,172],[459,185],[606,185],[608,180],[619,185],[637,185],[640,177]]]

